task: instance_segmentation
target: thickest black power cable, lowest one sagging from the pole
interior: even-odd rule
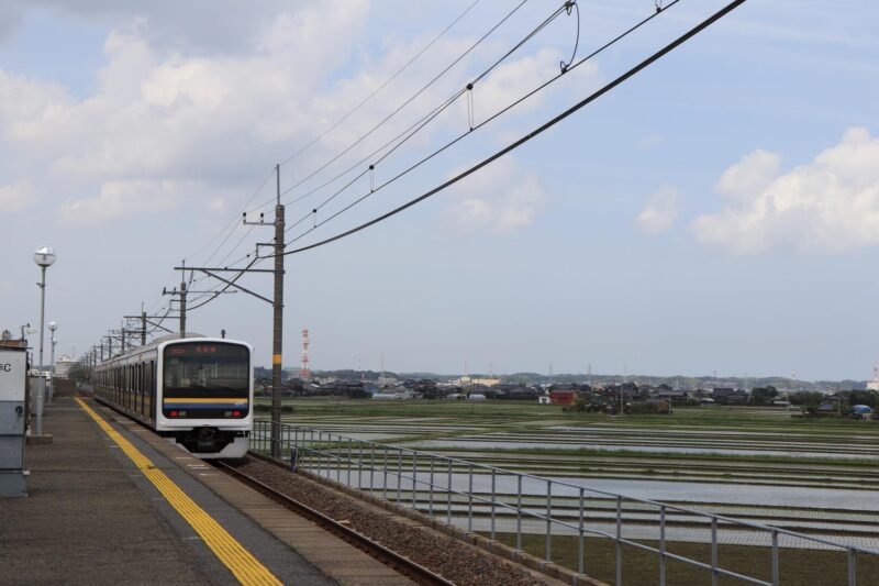
[[[571,106],[570,108],[568,108],[567,110],[561,112],[560,114],[558,114],[555,118],[553,118],[552,120],[549,120],[548,122],[545,122],[544,124],[542,124],[541,126],[534,129],[533,131],[531,131],[530,133],[525,134],[524,136],[522,136],[518,141],[515,141],[515,142],[509,144],[508,146],[501,148],[500,151],[498,151],[493,155],[491,155],[488,158],[477,163],[472,167],[470,167],[467,170],[456,175],[452,179],[449,179],[449,180],[447,180],[447,181],[434,187],[433,189],[422,194],[421,196],[419,196],[419,197],[416,197],[414,199],[411,199],[407,203],[404,203],[404,204],[402,204],[402,206],[400,206],[398,208],[394,208],[393,210],[391,210],[391,211],[389,211],[389,212],[387,212],[387,213],[385,213],[382,215],[379,215],[377,218],[374,218],[372,220],[369,220],[368,222],[365,222],[365,223],[363,223],[363,224],[360,224],[358,226],[355,226],[355,228],[353,228],[351,230],[347,230],[345,232],[336,234],[336,235],[334,235],[332,237],[322,240],[322,241],[316,242],[314,244],[310,244],[308,246],[302,246],[300,248],[294,248],[292,251],[287,251],[283,254],[288,255],[288,254],[297,254],[297,253],[310,251],[312,248],[316,248],[319,246],[323,246],[323,245],[330,244],[331,242],[335,242],[337,240],[341,240],[341,239],[344,239],[346,236],[349,236],[349,235],[352,235],[352,234],[354,234],[356,232],[365,230],[365,229],[367,229],[367,228],[369,228],[371,225],[375,225],[375,224],[377,224],[377,223],[379,223],[379,222],[381,222],[383,220],[387,220],[388,218],[390,218],[392,215],[396,215],[396,214],[400,213],[401,211],[403,211],[405,209],[409,209],[412,206],[415,206],[416,203],[420,203],[421,201],[424,201],[429,197],[434,196],[434,195],[438,194],[439,191],[443,191],[444,189],[455,185],[456,183],[460,181],[465,177],[468,177],[468,176],[472,175],[477,170],[479,170],[482,167],[491,164],[492,162],[494,162],[498,158],[502,157],[507,153],[518,148],[519,146],[525,144],[526,142],[531,141],[535,136],[544,133],[546,130],[550,129],[552,126],[556,125],[560,121],[565,120],[570,114],[577,112],[578,110],[580,110],[585,106],[593,102],[594,100],[597,100],[598,98],[600,98],[604,93],[609,92],[610,90],[612,90],[613,88],[615,88],[620,84],[626,81],[627,79],[630,79],[631,77],[633,77],[634,75],[636,75],[637,73],[643,70],[644,68],[648,67],[649,65],[652,65],[653,63],[657,62],[658,59],[660,59],[661,57],[664,57],[665,55],[667,55],[668,53],[670,53],[675,48],[679,47],[680,45],[682,45],[683,43],[686,43],[687,41],[689,41],[690,38],[692,38],[697,34],[702,32],[703,30],[708,29],[709,26],[714,24],[716,21],[721,20],[726,14],[728,14],[730,12],[732,12],[733,10],[738,8],[739,5],[744,4],[746,1],[747,0],[734,0],[733,2],[728,3],[726,7],[721,9],[719,12],[714,13],[712,16],[710,16],[706,20],[702,21],[700,24],[698,24],[693,29],[689,30],[687,33],[685,33],[683,35],[679,36],[678,38],[672,41],[670,44],[666,45],[665,47],[663,47],[658,52],[654,53],[653,55],[650,55],[649,57],[647,57],[646,59],[641,62],[638,65],[636,65],[633,68],[628,69],[626,73],[624,73],[621,76],[616,77],[613,81],[611,81],[610,84],[605,85],[604,87],[602,87],[601,89],[599,89],[598,91],[592,93],[591,96],[589,96],[589,97],[585,98],[583,100],[577,102],[576,104]]]

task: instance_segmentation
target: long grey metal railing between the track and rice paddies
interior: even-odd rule
[[[252,451],[271,453],[270,427],[269,420],[254,420]],[[554,537],[576,539],[577,561],[570,570],[579,574],[588,573],[587,535],[612,540],[617,586],[623,579],[623,546],[658,556],[661,586],[666,584],[669,561],[710,573],[712,585],[726,576],[749,584],[777,586],[782,540],[789,544],[804,541],[810,549],[844,552],[848,586],[857,585],[859,555],[879,556],[879,551],[872,549],[778,527],[311,428],[280,423],[279,436],[277,453],[289,455],[294,468],[308,469],[441,520],[445,517],[446,524],[466,527],[492,540],[500,533],[512,533],[514,539],[510,540],[510,545],[520,551],[525,551],[525,535],[543,535],[543,546],[537,554],[546,562],[553,562]],[[626,523],[641,529],[642,535],[633,537],[631,527],[626,534]],[[681,532],[688,533],[689,541],[709,543],[710,560],[699,561],[670,551],[669,542],[677,541]],[[694,535],[699,539],[693,539]],[[768,579],[721,567],[720,545],[738,543],[743,535],[748,544],[770,549]]]

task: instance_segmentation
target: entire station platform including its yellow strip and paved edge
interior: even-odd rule
[[[410,584],[94,401],[44,430],[29,497],[0,499],[0,584]]]

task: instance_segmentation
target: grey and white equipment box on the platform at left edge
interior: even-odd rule
[[[0,346],[0,498],[26,497],[24,395],[27,351]]]

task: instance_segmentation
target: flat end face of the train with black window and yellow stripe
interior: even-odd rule
[[[251,345],[182,339],[158,352],[156,431],[198,457],[244,457],[253,428]]]

